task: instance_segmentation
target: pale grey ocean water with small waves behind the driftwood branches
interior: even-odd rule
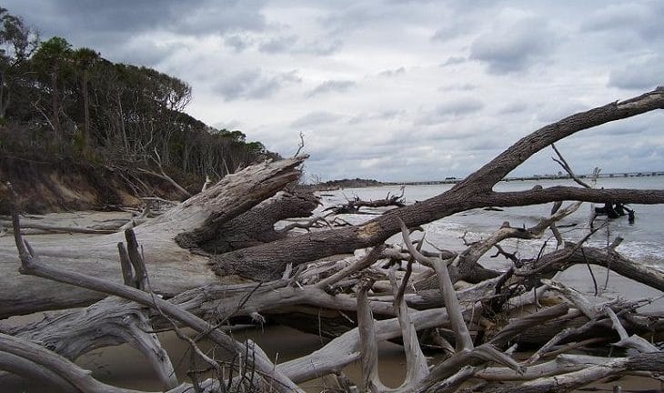
[[[538,180],[538,181],[510,181],[500,182],[494,187],[496,191],[519,191],[527,190],[533,186],[577,186],[571,180]],[[427,199],[431,196],[448,190],[452,185],[435,186],[406,186],[404,197],[407,204]],[[597,187],[604,188],[636,188],[636,189],[664,189],[664,176],[642,176],[642,177],[608,177],[598,179]],[[324,207],[343,204],[347,199],[355,196],[365,200],[382,199],[390,195],[400,194],[399,186],[379,186],[367,188],[347,188],[322,193],[321,200]],[[473,209],[458,213],[450,217],[444,217],[438,221],[424,226],[427,231],[427,239],[437,247],[443,247],[459,251],[464,248],[464,234],[468,241],[488,237],[498,229],[503,222],[508,221],[512,227],[531,227],[538,223],[542,217],[548,217],[552,204],[536,205],[528,207],[504,207],[503,211],[488,211],[485,209]],[[589,217],[595,206],[584,203],[578,210],[558,222],[560,232],[566,240],[576,241],[589,233]],[[615,237],[624,240],[617,248],[626,257],[648,265],[664,268],[664,206],[659,205],[628,205],[636,211],[636,220],[629,224],[628,217],[607,220],[606,217],[598,217],[595,227],[606,223],[597,233],[589,239],[589,245],[604,247],[610,244]],[[380,213],[381,210],[367,210],[370,213]],[[371,215],[343,215],[347,221],[357,224],[366,221]],[[389,241],[399,242],[400,237],[392,237]],[[535,257],[546,242],[548,248],[555,248],[556,240],[550,230],[538,240],[508,239],[501,243],[507,249],[516,252],[519,257]],[[489,252],[490,253],[490,252]],[[488,259],[485,262],[492,267],[507,267],[508,261],[504,258]]]

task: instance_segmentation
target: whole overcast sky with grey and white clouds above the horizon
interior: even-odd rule
[[[664,1],[5,0],[47,39],[193,88],[186,108],[309,176],[465,176],[564,116],[664,85]],[[578,173],[664,170],[664,113],[559,145]],[[547,149],[514,174],[557,173]]]

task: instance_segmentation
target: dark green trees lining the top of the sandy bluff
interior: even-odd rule
[[[113,63],[65,38],[41,41],[0,7],[0,153],[41,160],[156,165],[224,176],[268,152],[240,131],[183,112],[191,86],[145,66]]]

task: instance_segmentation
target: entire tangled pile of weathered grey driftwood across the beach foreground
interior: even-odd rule
[[[595,305],[555,277],[575,264],[596,264],[662,290],[664,273],[620,256],[616,243],[604,249],[564,243],[556,223],[579,206],[565,200],[662,204],[664,191],[585,184],[504,193],[492,188],[528,156],[566,136],[661,108],[664,89],[658,88],[569,116],[524,137],[440,196],[357,226],[334,227],[325,217],[325,225],[315,228],[316,217],[299,226],[305,234],[290,233],[298,226],[275,229],[277,221],[310,216],[317,207],[317,198],[289,191],[306,157],[249,166],[125,234],[27,243],[15,213],[15,244],[0,247],[0,314],[65,311],[25,326],[0,324],[0,386],[23,376],[61,391],[133,391],[104,385],[72,363],[121,343],[138,348],[162,390],[171,392],[299,391],[297,383],[338,374],[356,360],[361,378],[337,378],[348,390],[456,391],[472,383],[476,388],[466,389],[568,391],[630,373],[656,378],[664,364],[655,345],[664,341],[664,315],[640,313],[649,300]],[[555,207],[538,225],[506,223],[458,252],[424,251],[425,239],[413,241],[416,234],[408,230],[471,208],[548,202]],[[518,258],[500,247],[505,239],[529,241],[548,230],[558,239],[555,251]],[[398,232],[402,245],[384,244]],[[483,267],[492,248],[514,266]],[[460,280],[473,285],[456,289]],[[239,343],[220,328],[268,321],[316,327],[333,339],[307,356],[273,364],[253,343]],[[195,335],[186,336],[183,327]],[[153,334],[162,329],[175,330],[210,375],[192,370],[190,381],[178,380]],[[200,350],[204,338],[235,359]],[[377,375],[377,343],[383,340],[404,346],[407,377],[399,388],[386,388]],[[593,344],[633,352],[603,359],[568,355]],[[425,345],[450,356],[428,364]],[[510,355],[514,345],[535,351],[518,362]]]

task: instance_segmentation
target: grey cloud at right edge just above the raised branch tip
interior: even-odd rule
[[[609,86],[623,89],[652,89],[664,83],[664,56],[652,55],[616,67],[609,74]]]

